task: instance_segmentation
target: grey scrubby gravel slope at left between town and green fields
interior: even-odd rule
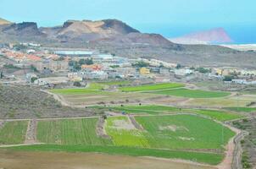
[[[35,87],[0,85],[0,118],[81,117],[96,115],[90,109],[62,106],[52,95]]]

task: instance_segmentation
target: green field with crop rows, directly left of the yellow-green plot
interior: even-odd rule
[[[112,144],[96,134],[97,118],[39,121],[37,139],[47,144]]]

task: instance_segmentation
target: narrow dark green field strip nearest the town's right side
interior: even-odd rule
[[[225,97],[231,95],[228,92],[222,91],[206,91],[206,90],[188,90],[188,89],[173,89],[173,90],[159,90],[153,91],[160,95],[175,95],[187,98],[211,98],[211,97]]]

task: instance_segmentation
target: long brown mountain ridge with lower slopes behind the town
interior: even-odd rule
[[[35,22],[0,25],[0,43],[35,42],[45,47],[97,49],[120,57],[155,58],[187,66],[256,68],[256,52],[238,52],[216,45],[175,44],[117,19],[67,20],[38,28]]]

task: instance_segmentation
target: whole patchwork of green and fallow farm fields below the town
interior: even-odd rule
[[[104,117],[105,121],[98,121],[99,117],[73,118],[73,112],[70,112],[71,118],[38,118],[36,143],[42,144],[10,149],[100,152],[219,164],[225,156],[225,145],[235,135],[221,122],[242,118],[245,116],[242,113],[244,111],[198,107],[192,101],[222,101],[237,97],[229,92],[190,90],[184,87],[178,83],[131,86],[131,82],[117,81],[93,82],[86,88],[49,90],[71,106],[101,112],[100,119]],[[251,95],[242,97],[253,100]],[[11,143],[7,141],[8,131],[14,133],[14,129],[5,123],[0,129],[0,134],[5,134],[4,137],[0,136],[2,144],[24,143],[26,127],[27,122],[23,129],[19,127],[19,130],[24,131],[22,134],[10,136],[19,137],[14,139],[19,141]],[[99,128],[102,128],[103,133],[99,134]]]

